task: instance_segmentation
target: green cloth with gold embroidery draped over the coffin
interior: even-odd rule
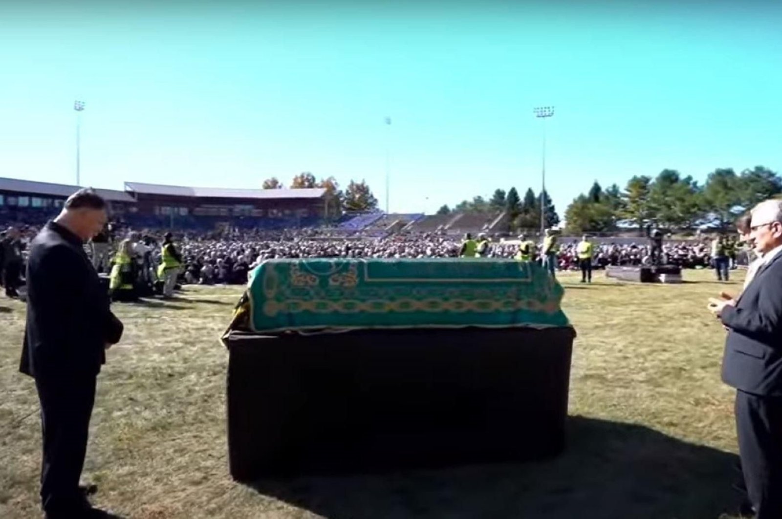
[[[564,291],[506,259],[271,259],[250,274],[246,328],[566,327]]]

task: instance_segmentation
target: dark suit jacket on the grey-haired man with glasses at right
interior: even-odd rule
[[[782,254],[759,267],[720,319],[730,329],[723,381],[755,395],[782,396]]]

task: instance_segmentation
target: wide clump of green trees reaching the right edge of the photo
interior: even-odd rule
[[[737,174],[719,168],[698,184],[676,170],[657,177],[636,175],[624,189],[597,181],[565,209],[568,231],[610,232],[622,227],[651,225],[666,231],[687,231],[708,226],[725,231],[756,203],[782,193],[782,177],[764,166]]]

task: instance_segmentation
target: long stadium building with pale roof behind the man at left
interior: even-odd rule
[[[0,177],[0,222],[42,224],[78,189]],[[306,227],[321,221],[328,209],[323,188],[188,188],[126,182],[125,191],[95,191],[109,202],[113,218],[138,227]]]

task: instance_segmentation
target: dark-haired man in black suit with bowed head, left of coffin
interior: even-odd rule
[[[41,500],[46,517],[108,517],[93,509],[79,478],[106,348],[123,326],[84,253],[106,224],[106,202],[82,189],[30,245],[27,326],[20,371],[35,379],[41,403]]]

